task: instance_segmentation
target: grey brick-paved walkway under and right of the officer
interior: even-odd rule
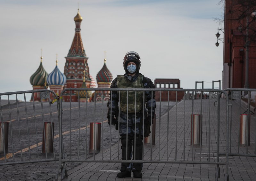
[[[210,106],[209,106],[210,105]],[[226,102],[220,100],[220,152],[224,152],[226,147]],[[156,122],[156,145],[144,146],[144,160],[177,160],[177,161],[216,161],[217,142],[217,107],[214,101],[209,99],[194,101],[194,114],[200,114],[202,107],[202,147],[194,146],[193,150],[190,146],[190,115],[192,114],[192,101],[186,100],[186,110],[184,111],[184,102],[181,101],[178,106],[172,107],[168,114],[161,116]],[[177,109],[176,109],[177,108]],[[243,113],[244,107],[240,110]],[[184,119],[185,112],[185,119]],[[233,103],[232,115],[232,153],[237,152],[238,140],[238,122],[240,119],[239,105]],[[176,119],[177,118],[177,119]],[[255,120],[255,116],[251,117]],[[161,121],[161,126],[159,122]],[[185,124],[184,124],[185,121]],[[169,123],[169,124],[168,124]],[[210,127],[209,127],[210,125]],[[159,128],[160,127],[160,128]],[[177,129],[176,129],[177,127]],[[255,129],[255,121],[251,122],[251,130]],[[177,130],[177,132],[175,131]],[[185,136],[184,136],[185,134]],[[167,141],[168,138],[168,141]],[[254,153],[255,148],[255,132],[251,132],[251,145],[248,153]],[[210,142],[208,141],[210,139]],[[168,143],[168,144],[167,144]],[[114,144],[111,147],[111,159],[117,160],[119,149],[119,159],[121,158],[120,144]],[[201,155],[200,155],[201,150]],[[151,154],[152,152],[152,154]],[[240,146],[240,153],[246,153],[246,148]],[[152,157],[151,157],[152,155]],[[109,148],[103,151],[103,160],[108,160],[110,156]],[[101,160],[102,153],[95,156],[95,160]],[[225,162],[225,157],[220,157],[221,162]],[[254,157],[229,156],[229,180],[255,180],[256,162]],[[120,163],[82,163],[79,166],[68,171],[68,178],[64,180],[215,180],[214,164],[172,164],[172,163],[144,163],[140,178],[117,178],[116,174],[120,170]],[[225,180],[225,165],[220,165],[220,178]]]

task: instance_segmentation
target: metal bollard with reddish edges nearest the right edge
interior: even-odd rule
[[[247,127],[247,122],[248,122],[248,130],[246,129]],[[248,146],[250,146],[250,125],[251,125],[251,114],[241,114],[240,115],[240,145],[245,145],[246,146],[246,140],[248,138]],[[246,137],[246,133],[247,136]]]

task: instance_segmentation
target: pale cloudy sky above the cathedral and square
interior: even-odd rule
[[[124,54],[136,51],[140,72],[153,82],[179,78],[182,88],[195,88],[195,81],[206,81],[204,87],[210,88],[212,80],[222,79],[223,44],[215,46],[220,25],[213,20],[223,13],[219,1],[80,1],[90,74],[96,79],[104,51],[113,76],[124,74]],[[32,90],[29,78],[40,64],[41,48],[44,69],[54,69],[58,54],[64,71],[77,6],[71,0],[0,1],[0,92]]]

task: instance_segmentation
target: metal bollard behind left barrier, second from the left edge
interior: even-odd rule
[[[43,130],[43,147],[42,147],[42,153],[45,153],[45,146],[46,146],[46,153],[53,153],[53,135],[54,134],[54,123],[50,122],[44,122],[44,130]],[[44,133],[45,138],[44,139]]]

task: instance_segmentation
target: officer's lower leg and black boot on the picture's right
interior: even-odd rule
[[[136,146],[134,145],[134,140],[133,140],[133,160],[142,160],[142,154],[143,154],[143,144],[142,144],[142,137],[136,135]],[[136,159],[134,159],[134,148],[135,149],[135,156]],[[135,170],[133,170],[133,177],[135,178],[141,178],[142,177],[142,163],[133,163],[133,167]]]

